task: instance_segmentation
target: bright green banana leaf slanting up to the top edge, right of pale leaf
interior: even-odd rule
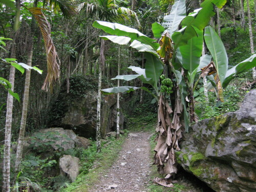
[[[184,26],[181,30],[174,32],[172,39],[175,42],[175,49],[182,45],[186,45],[190,38],[198,35],[195,28],[203,30],[209,23],[210,17],[215,14],[214,4],[221,8],[225,5],[226,0],[205,0],[200,9],[194,11],[194,13],[186,16],[181,26]]]

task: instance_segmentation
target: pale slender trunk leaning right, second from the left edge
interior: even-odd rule
[[[28,63],[27,63],[28,66],[32,65],[32,56],[33,56],[33,45],[31,46],[31,49],[28,55]],[[16,160],[15,160],[15,172],[19,170],[20,161],[22,160],[23,141],[24,141],[27,114],[28,114],[30,74],[31,74],[31,70],[27,70],[26,79],[25,79],[24,97],[23,97],[22,120],[20,122],[20,130],[19,130],[19,137],[18,137]]]

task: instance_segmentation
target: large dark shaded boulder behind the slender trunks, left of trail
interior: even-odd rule
[[[74,85],[75,84],[75,85]],[[84,88],[84,86],[91,86]],[[66,85],[58,97],[52,101],[48,126],[71,129],[77,135],[86,138],[96,136],[97,118],[97,80],[92,77],[76,77],[70,80],[70,91]],[[101,135],[115,131],[116,95],[103,95],[101,101]],[[120,115],[120,129],[123,129],[124,117]]]

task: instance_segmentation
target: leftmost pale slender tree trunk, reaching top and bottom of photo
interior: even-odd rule
[[[19,17],[20,17],[20,0],[16,0],[16,14],[14,21],[14,32],[19,29]],[[16,58],[16,45],[15,37],[13,39],[13,47],[11,58]],[[15,79],[15,68],[11,66],[9,82],[12,84],[11,91],[14,90],[14,79]],[[12,109],[13,109],[13,96],[8,93],[7,103],[6,103],[6,123],[5,123],[5,147],[4,147],[4,161],[3,161],[3,192],[10,191],[10,168],[11,168],[11,133],[12,133]]]

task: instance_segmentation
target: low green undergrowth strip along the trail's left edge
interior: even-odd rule
[[[87,150],[84,150],[80,157],[80,174],[75,182],[61,192],[69,191],[88,191],[90,186],[98,182],[99,177],[118,157],[121,145],[125,140],[126,134],[120,135],[120,139],[111,138],[102,142],[101,153],[96,152],[96,142],[92,143]]]

